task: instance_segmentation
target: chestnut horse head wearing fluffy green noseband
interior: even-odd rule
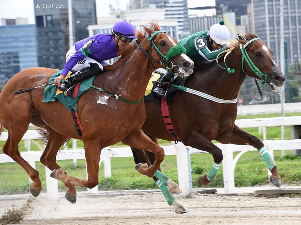
[[[165,66],[173,73],[178,73],[180,77],[189,76],[193,72],[194,62],[185,55],[185,48],[162,31],[157,22],[150,21],[150,25],[152,28],[142,25],[149,38],[145,38],[145,32],[144,34],[141,31],[137,32],[135,44],[138,48],[149,56],[153,67]]]

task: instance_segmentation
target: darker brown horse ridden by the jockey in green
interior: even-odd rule
[[[262,80],[262,84],[267,83],[273,90],[284,84],[285,76],[275,64],[272,51],[257,35],[247,34],[243,40],[238,41],[240,45],[232,51],[228,50],[231,53],[227,56],[218,58],[216,62],[202,62],[198,65],[200,68],[195,68],[186,79],[186,90],[173,93],[168,106],[171,121],[184,145],[213,155],[213,166],[208,174],[198,179],[199,186],[216,179],[223,160],[222,150],[211,142],[217,140],[223,144],[251,145],[258,149],[272,173],[270,182],[280,187],[277,166],[262,141],[241,130],[234,122],[238,91],[247,75]],[[223,60],[225,68],[220,66]],[[163,121],[160,105],[145,101],[145,107],[146,120],[142,130],[154,141],[157,138],[173,141]],[[154,155],[137,150],[132,146],[136,164],[154,163]]]

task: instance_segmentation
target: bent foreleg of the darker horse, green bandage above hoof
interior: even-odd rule
[[[214,162],[211,169],[209,170],[208,174],[199,177],[197,184],[199,186],[206,186],[210,182],[215,181],[219,166],[223,160],[222,150],[214,145],[211,140],[198,133],[197,131],[192,131],[184,144],[195,149],[209,152],[213,156]]]

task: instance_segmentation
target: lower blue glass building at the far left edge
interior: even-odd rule
[[[0,85],[20,70],[36,66],[35,25],[0,26]]]

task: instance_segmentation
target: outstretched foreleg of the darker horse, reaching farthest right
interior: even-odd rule
[[[277,165],[258,137],[248,134],[234,125],[233,130],[225,131],[224,133],[220,134],[216,140],[222,144],[231,143],[234,145],[250,145],[258,149],[268,167],[268,170],[270,170],[272,173],[272,175],[269,177],[269,181],[276,187],[281,187],[281,178],[277,170]]]

